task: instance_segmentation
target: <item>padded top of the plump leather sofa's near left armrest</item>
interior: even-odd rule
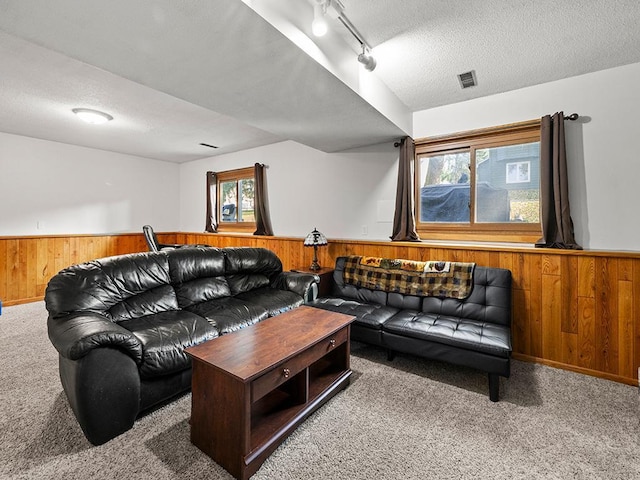
[[[60,355],[78,360],[95,348],[112,347],[142,362],[142,345],[129,330],[97,313],[47,319],[51,343]]]

